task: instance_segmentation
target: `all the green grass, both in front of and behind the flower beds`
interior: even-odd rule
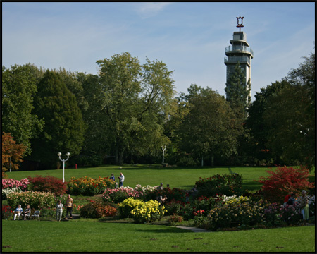
[[[262,167],[199,167],[159,168],[157,166],[125,165],[85,169],[66,169],[65,179],[89,176],[116,178],[125,175],[125,186],[156,186],[191,188],[199,177],[238,173],[243,188],[257,190],[254,181],[266,176]],[[63,169],[46,171],[13,171],[9,178],[50,175],[63,178]],[[314,181],[314,171],[310,181]],[[73,197],[74,198],[74,197]],[[78,197],[80,198],[80,197]],[[85,197],[81,197],[84,198]],[[75,197],[76,200],[76,197]],[[79,201],[79,200],[77,200]],[[20,237],[17,235],[24,234]],[[249,231],[194,233],[185,229],[157,224],[106,223],[98,219],[77,219],[66,222],[49,220],[2,220],[2,253],[4,252],[311,252],[315,253],[315,226],[294,226]]]

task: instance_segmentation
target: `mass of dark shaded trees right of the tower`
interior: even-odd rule
[[[256,164],[315,164],[315,54],[280,82],[256,93],[249,107],[250,155]]]

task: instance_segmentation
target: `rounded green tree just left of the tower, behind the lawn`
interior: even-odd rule
[[[209,87],[191,88],[195,92],[189,95],[189,113],[178,130],[180,147],[197,157],[210,155],[213,166],[214,157],[228,158],[237,152],[241,126],[235,121],[230,104],[218,92]]]

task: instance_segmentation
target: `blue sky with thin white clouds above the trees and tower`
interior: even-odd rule
[[[130,52],[140,63],[166,63],[177,92],[194,83],[225,95],[225,47],[243,16],[254,96],[315,51],[313,1],[1,4],[6,68],[34,63],[97,74],[97,60]]]

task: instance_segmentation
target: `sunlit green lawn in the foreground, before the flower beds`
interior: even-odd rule
[[[315,252],[315,226],[193,233],[95,219],[11,220],[3,221],[2,233],[2,252]]]

